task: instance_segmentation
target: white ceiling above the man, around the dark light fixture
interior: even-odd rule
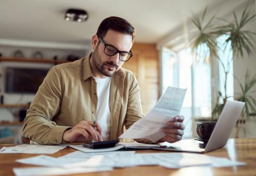
[[[218,9],[223,2],[234,5],[241,0],[1,0],[0,39],[83,46],[90,43],[103,19],[115,15],[135,27],[135,42],[158,43],[179,28],[191,12],[201,13],[206,5]],[[89,20],[65,21],[69,8],[86,10]]]

